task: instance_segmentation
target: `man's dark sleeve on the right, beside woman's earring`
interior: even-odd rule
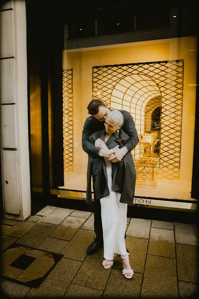
[[[131,114],[128,111],[124,111],[123,117],[124,117],[124,125],[122,127],[122,130],[129,136],[129,139],[125,144],[125,147],[127,148],[128,151],[131,151],[137,146],[139,142],[139,138]]]

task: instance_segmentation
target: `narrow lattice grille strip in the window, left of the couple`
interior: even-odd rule
[[[73,171],[73,70],[63,70],[64,171]]]

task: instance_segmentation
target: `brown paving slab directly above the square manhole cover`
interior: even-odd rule
[[[27,223],[26,224],[32,224]],[[43,240],[45,240],[50,233],[57,227],[57,225],[39,222],[29,232],[16,241],[30,247],[37,247]]]

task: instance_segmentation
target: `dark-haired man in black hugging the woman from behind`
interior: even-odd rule
[[[124,118],[124,123],[122,130],[128,134],[129,140],[125,147],[118,149],[99,149],[95,147],[90,141],[89,137],[102,129],[104,129],[104,121],[107,114],[110,112],[107,104],[104,104],[98,99],[92,100],[88,107],[88,113],[91,115],[85,121],[83,133],[82,133],[82,148],[88,154],[93,156],[100,155],[106,159],[109,159],[113,163],[121,161],[123,156],[136,147],[139,142],[137,135],[137,130],[135,129],[135,123],[131,114],[125,110],[119,110]],[[113,154],[113,155],[112,155]],[[101,247],[103,247],[103,231],[101,224],[101,207],[100,200],[95,201],[95,211],[94,211],[94,228],[96,233],[96,238],[94,242],[88,247],[87,254],[93,254],[97,252]]]

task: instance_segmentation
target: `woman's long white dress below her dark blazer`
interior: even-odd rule
[[[111,162],[106,164],[107,183],[110,194],[100,198],[101,222],[103,229],[104,258],[112,260],[114,253],[127,254],[125,230],[127,223],[127,203],[119,202],[121,193],[112,191]]]

